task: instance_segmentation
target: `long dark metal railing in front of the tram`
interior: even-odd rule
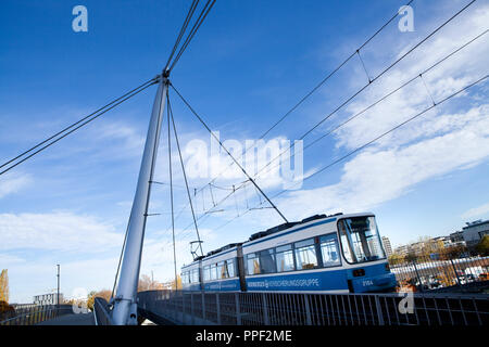
[[[488,325],[487,295],[149,291],[139,314],[158,324]]]

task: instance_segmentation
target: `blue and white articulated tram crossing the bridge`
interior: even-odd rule
[[[196,269],[200,269],[196,271]],[[197,282],[191,282],[191,273]],[[396,287],[373,214],[313,216],[183,268],[184,290],[364,293]],[[198,284],[198,285],[197,285]]]

